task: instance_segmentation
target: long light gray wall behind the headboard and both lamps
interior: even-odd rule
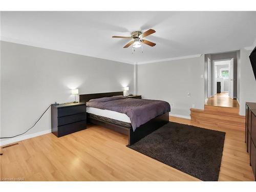
[[[130,64],[6,41],[1,55],[1,137],[24,132],[54,101],[73,101],[70,89],[87,94],[129,86],[133,93]],[[27,134],[50,127],[49,110]]]

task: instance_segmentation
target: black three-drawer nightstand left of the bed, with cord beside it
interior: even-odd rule
[[[86,103],[63,103],[51,106],[52,133],[61,137],[86,129]]]

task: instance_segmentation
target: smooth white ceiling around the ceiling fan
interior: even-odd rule
[[[143,53],[122,47],[154,29]],[[239,50],[256,39],[256,12],[1,12],[1,39],[127,63]]]

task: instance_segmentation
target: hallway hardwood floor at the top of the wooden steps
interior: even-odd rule
[[[230,99],[228,97],[228,93],[216,94],[214,97],[208,98],[205,104],[214,106],[226,106],[229,108],[239,108],[238,101],[236,99]]]

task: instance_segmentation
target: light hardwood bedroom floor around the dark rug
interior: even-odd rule
[[[253,181],[244,132],[188,119],[170,121],[226,132],[219,181]],[[25,181],[198,181],[126,147],[127,136],[100,126],[57,138],[53,134],[2,149],[2,178]]]

